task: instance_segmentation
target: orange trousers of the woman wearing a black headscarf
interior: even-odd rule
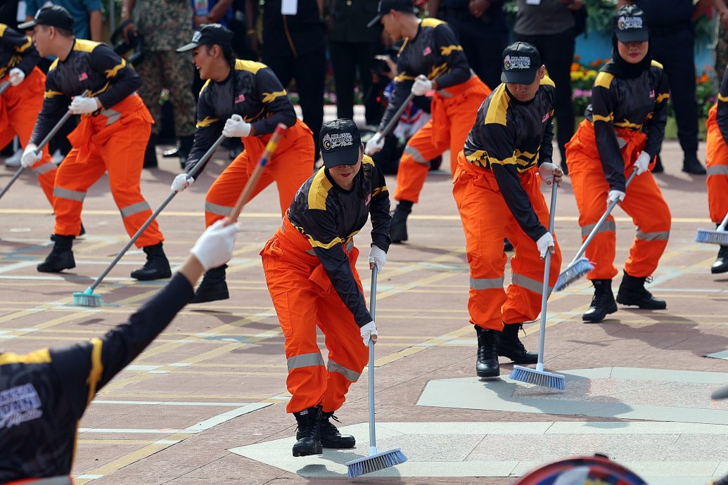
[[[646,135],[633,130],[617,129],[617,137],[626,143],[622,147],[622,158],[625,161],[625,176],[629,177],[634,162],[644,148]],[[582,121],[574,137],[566,144],[566,159],[569,161],[569,177],[579,207],[579,226],[582,228],[583,241],[604,215],[606,197],[609,194],[609,184],[604,177],[596,147],[594,125],[590,121]],[[650,169],[652,167],[654,160]],[[625,271],[640,278],[649,276],[657,268],[670,236],[670,209],[662,198],[652,172],[645,172],[632,180],[620,207],[632,217],[637,226],[630,256],[625,262]],[[615,231],[614,217],[609,215],[587,247],[586,257],[594,264],[594,269],[587,273],[587,278],[612,279],[617,276],[617,268],[614,266],[617,243]]]

